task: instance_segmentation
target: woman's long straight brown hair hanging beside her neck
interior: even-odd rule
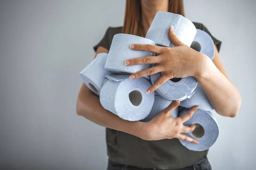
[[[169,0],[168,11],[185,17],[183,0]],[[122,33],[145,37],[141,22],[140,0],[126,0],[125,20]]]

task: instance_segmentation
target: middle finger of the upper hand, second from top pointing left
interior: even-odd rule
[[[161,58],[157,56],[147,56],[135,59],[129,59],[125,62],[125,65],[137,65],[137,64],[154,64],[160,63]]]

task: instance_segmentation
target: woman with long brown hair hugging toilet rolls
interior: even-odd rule
[[[115,34],[125,33],[144,37],[157,11],[169,11],[184,16],[183,1],[127,0],[124,26],[108,28],[103,39],[94,47],[96,54],[108,53]],[[196,28],[211,35],[204,25],[194,24]],[[212,37],[215,43],[215,56],[210,60],[204,54],[180,42],[173,28],[169,30],[169,38],[175,44],[174,48],[131,45],[132,50],[150,51],[158,55],[126,61],[126,65],[157,63],[157,66],[132,74],[130,78],[136,79],[161,72],[163,76],[147,91],[151,93],[168,79],[193,76],[200,83],[217,113],[235,117],[240,108],[241,97],[230,82],[218,55],[221,42]],[[179,101],[173,101],[150,122],[130,122],[102,108],[99,97],[83,84],[78,96],[77,114],[107,127],[108,170],[210,170],[206,157],[208,150],[188,150],[178,141],[182,139],[198,143],[197,140],[183,134],[195,129],[195,125],[186,127],[183,122],[186,122],[198,107],[192,108],[183,117],[173,119],[169,113],[178,105]]]

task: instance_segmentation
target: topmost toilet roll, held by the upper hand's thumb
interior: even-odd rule
[[[173,26],[175,34],[181,42],[190,46],[196,34],[194,24],[179,14],[160,11],[154,17],[145,38],[157,44],[174,47],[169,39],[169,28]]]

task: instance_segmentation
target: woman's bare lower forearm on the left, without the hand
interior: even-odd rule
[[[130,122],[105,110],[99,102],[99,97],[94,95],[84,84],[79,91],[76,113],[98,125],[129,133],[142,139],[147,137],[144,122]]]

